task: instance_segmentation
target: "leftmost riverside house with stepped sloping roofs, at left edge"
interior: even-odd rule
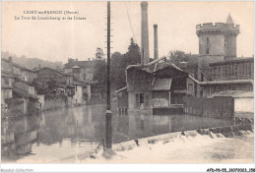
[[[8,116],[32,115],[39,110],[38,97],[32,86],[36,73],[12,62],[2,59],[1,74],[2,110]]]

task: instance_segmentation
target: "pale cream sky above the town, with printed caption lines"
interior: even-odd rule
[[[61,11],[60,15],[24,11]],[[79,12],[64,15],[64,11]],[[150,57],[154,56],[154,24],[159,29],[159,55],[170,50],[198,54],[196,25],[225,23],[230,13],[240,25],[237,56],[254,54],[253,2],[149,2]],[[22,20],[31,17],[81,17],[86,20]],[[15,17],[20,17],[16,20]],[[125,53],[134,37],[141,44],[140,2],[111,2],[111,53]],[[129,20],[130,19],[130,20]],[[106,2],[2,2],[2,51],[66,63],[68,58],[95,58],[96,47],[106,54]]]

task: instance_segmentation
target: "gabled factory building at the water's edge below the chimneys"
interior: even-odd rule
[[[160,62],[162,61],[162,62]],[[127,87],[117,93],[121,111],[182,107],[188,73],[161,58],[126,69]]]

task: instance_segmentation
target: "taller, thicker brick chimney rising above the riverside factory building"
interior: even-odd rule
[[[141,3],[142,8],[142,32],[141,32],[141,50],[142,50],[142,65],[150,62],[149,51],[149,25],[148,25],[148,2],[143,1]]]

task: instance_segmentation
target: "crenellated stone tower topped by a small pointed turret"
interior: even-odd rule
[[[236,57],[236,36],[239,25],[234,25],[228,14],[225,23],[207,23],[196,26],[199,37],[199,56],[204,63],[231,60]]]

